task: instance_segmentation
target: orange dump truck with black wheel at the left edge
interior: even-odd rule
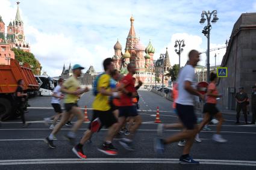
[[[36,94],[39,90],[39,83],[30,65],[21,66],[15,59],[10,60],[10,65],[0,65],[0,118],[2,120],[19,117],[15,102],[15,91],[19,79],[24,80],[24,91],[28,94]]]

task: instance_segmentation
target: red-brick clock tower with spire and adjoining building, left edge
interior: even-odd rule
[[[10,58],[14,59],[12,48],[30,52],[30,45],[25,41],[23,21],[19,13],[19,2],[17,2],[16,17],[7,26],[7,34],[5,34],[5,23],[0,16],[0,64],[10,64]]]

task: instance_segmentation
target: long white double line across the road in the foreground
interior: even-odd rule
[[[256,161],[196,159],[202,165],[256,166]],[[178,159],[158,158],[89,158],[89,159],[13,159],[0,160],[0,165],[66,164],[66,163],[179,163]]]

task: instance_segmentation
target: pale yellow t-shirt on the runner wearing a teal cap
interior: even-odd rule
[[[81,86],[80,81],[73,76],[69,77],[63,83],[63,87],[66,87],[67,90],[69,90],[69,91],[76,91],[81,88],[80,86]],[[64,99],[64,103],[77,103],[77,101],[78,101],[78,96],[73,95],[73,94],[67,94]]]

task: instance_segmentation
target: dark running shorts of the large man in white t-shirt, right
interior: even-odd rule
[[[183,123],[184,127],[188,130],[195,129],[197,124],[197,117],[194,111],[194,106],[192,105],[181,105],[176,103],[176,109],[178,112],[178,117]]]

